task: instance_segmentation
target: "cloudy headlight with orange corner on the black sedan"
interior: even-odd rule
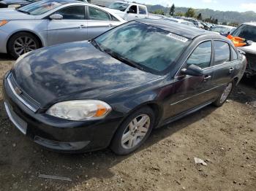
[[[111,107],[98,100],[63,101],[55,104],[46,112],[54,117],[66,120],[99,120],[111,111]]]

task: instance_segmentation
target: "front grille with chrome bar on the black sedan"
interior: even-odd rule
[[[12,93],[18,98],[19,101],[21,101],[25,106],[27,106],[29,109],[31,109],[33,112],[37,112],[37,110],[40,108],[40,104],[35,101],[31,96],[29,96],[26,92],[24,92],[17,84],[15,79],[13,78],[12,74],[9,74],[7,77],[8,85],[10,86],[10,89],[12,90]],[[18,88],[20,93],[16,92],[16,88]]]

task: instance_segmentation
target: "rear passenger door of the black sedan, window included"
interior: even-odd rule
[[[238,64],[238,55],[235,55],[235,52],[230,51],[230,44],[227,42],[214,40],[214,75],[212,82],[215,87],[223,87],[233,79]],[[222,90],[222,88],[218,88],[218,90]]]

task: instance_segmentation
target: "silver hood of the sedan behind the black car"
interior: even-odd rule
[[[34,19],[34,15],[27,15],[12,8],[0,9],[0,20]]]

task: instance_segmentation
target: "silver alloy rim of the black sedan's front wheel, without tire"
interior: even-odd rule
[[[121,146],[124,149],[133,149],[138,145],[148,133],[150,127],[150,117],[147,114],[141,114],[135,117],[126,130],[124,130],[121,138]]]

